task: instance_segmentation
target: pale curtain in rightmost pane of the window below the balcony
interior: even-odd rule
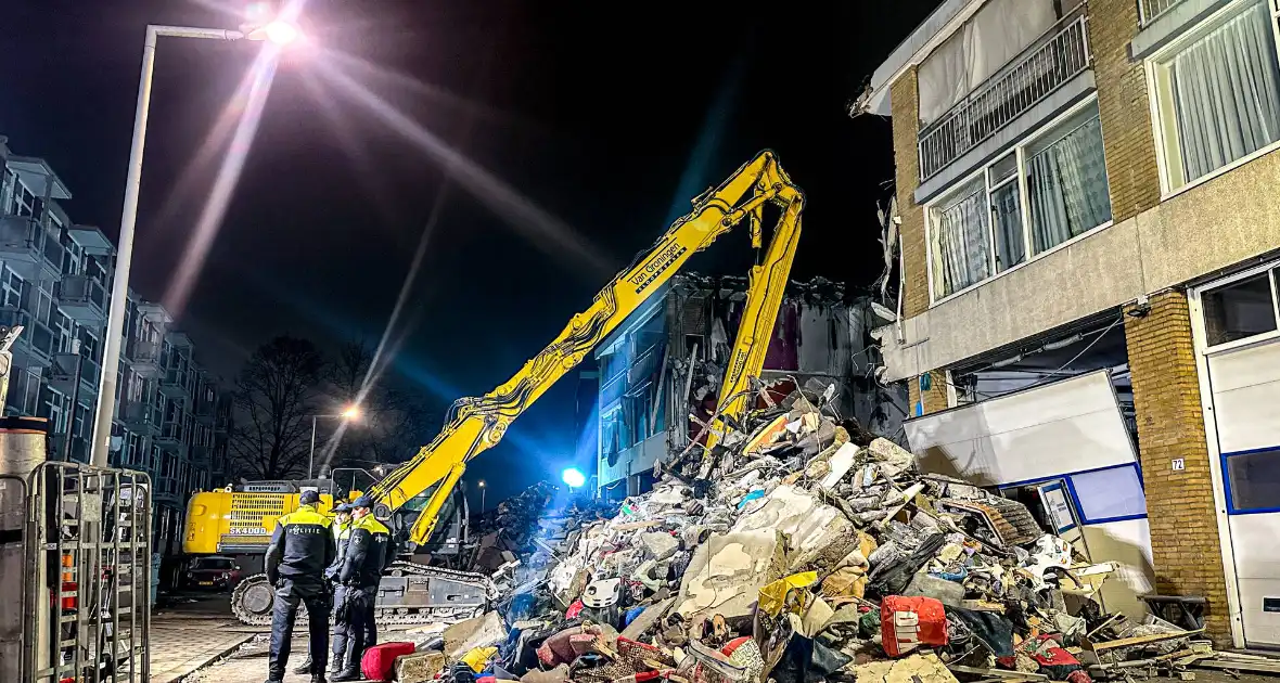
[[[1036,253],[1111,220],[1097,118],[1027,160],[1027,192]]]

